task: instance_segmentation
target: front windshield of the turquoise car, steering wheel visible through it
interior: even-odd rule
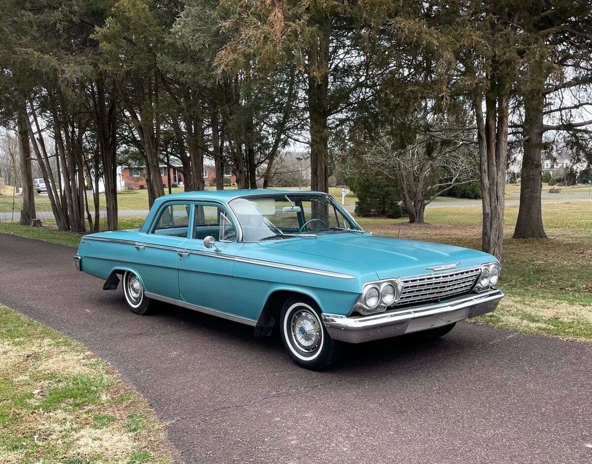
[[[233,199],[229,205],[239,220],[244,241],[362,232],[329,195],[248,196]]]

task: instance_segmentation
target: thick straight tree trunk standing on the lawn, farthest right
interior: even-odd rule
[[[514,239],[546,239],[541,214],[540,151],[543,144],[543,106],[540,95],[525,98],[522,130],[524,156],[520,173],[520,207]]]

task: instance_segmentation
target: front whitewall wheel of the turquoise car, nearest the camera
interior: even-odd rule
[[[306,369],[322,370],[339,357],[340,345],[319,314],[317,305],[303,298],[290,298],[282,308],[282,342],[294,362]]]

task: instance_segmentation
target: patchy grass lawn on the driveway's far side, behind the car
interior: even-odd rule
[[[592,344],[592,203],[543,203],[548,240],[512,239],[518,205],[506,205],[506,238],[498,310],[478,323],[525,333],[541,333]],[[121,228],[137,228],[143,217],[120,218]],[[435,241],[480,249],[481,207],[428,208],[426,223],[406,219],[358,218],[377,235]],[[50,221],[44,224],[51,225]],[[80,236],[55,229],[0,223],[0,232],[78,246]]]

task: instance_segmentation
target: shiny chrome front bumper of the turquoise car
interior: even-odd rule
[[[333,339],[362,343],[446,326],[456,321],[476,317],[495,310],[503,297],[503,292],[491,289],[446,302],[413,306],[368,316],[346,317],[326,313],[321,316],[327,332]]]

